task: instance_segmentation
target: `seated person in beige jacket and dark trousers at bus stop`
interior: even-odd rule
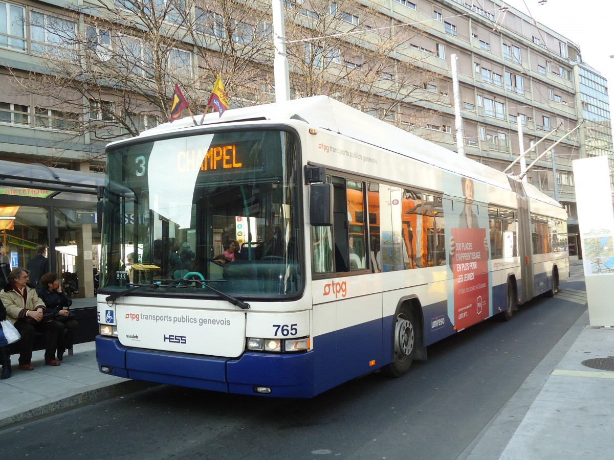
[[[9,274],[6,286],[0,291],[0,300],[6,308],[6,316],[21,335],[19,340],[19,369],[32,370],[32,347],[36,331],[45,334],[45,364],[60,366],[55,359],[58,344],[59,325],[53,318],[45,316],[47,310],[36,294],[36,289],[28,284],[29,270],[15,267]]]

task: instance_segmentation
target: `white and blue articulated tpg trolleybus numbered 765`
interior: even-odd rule
[[[569,276],[561,205],[325,96],[114,142],[99,197],[120,377],[313,397]]]

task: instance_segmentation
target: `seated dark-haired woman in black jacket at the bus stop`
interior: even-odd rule
[[[62,292],[62,285],[56,273],[45,273],[41,277],[41,284],[37,286],[36,293],[45,302],[47,313],[53,312],[53,320],[58,323],[58,359],[64,359],[64,351],[72,348],[74,334],[79,323],[74,320],[74,313],[68,308],[72,299]]]

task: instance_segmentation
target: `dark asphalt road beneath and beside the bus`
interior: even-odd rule
[[[0,431],[0,456],[456,459],[585,310],[564,293],[534,299],[509,323],[432,345],[405,377],[367,375],[312,400],[155,386]]]

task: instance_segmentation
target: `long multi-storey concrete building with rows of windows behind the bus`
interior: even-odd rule
[[[171,3],[174,6],[168,9]],[[298,11],[293,21],[306,21],[321,16],[311,7],[314,3],[288,1],[286,8]],[[423,66],[425,72],[434,72],[437,77],[419,88],[422,96],[431,94],[433,97],[416,96],[418,93],[410,94],[403,91],[406,88],[399,88],[397,99],[381,98],[384,103],[395,107],[383,118],[456,151],[457,126],[451,74],[451,56],[454,55],[457,58],[465,155],[504,171],[521,151],[529,150],[527,163],[531,163],[562,139],[550,153],[537,161],[526,177],[528,182],[555,197],[567,209],[570,247],[572,255],[577,254],[573,241],[578,229],[572,161],[593,155],[613,158],[607,81],[583,63],[580,48],[499,0],[329,3],[326,7],[328,14],[340,15],[341,22],[347,23],[341,28],[343,30],[340,29],[343,32],[362,30],[375,34],[375,30],[384,26],[413,28],[418,32],[411,35],[402,49],[393,50],[389,57],[395,63],[411,61]],[[224,34],[225,23],[236,25],[237,21],[224,21],[218,13],[207,13],[215,10],[216,4],[204,0],[198,0],[196,4],[166,0],[160,2],[160,7],[166,7],[172,13],[169,13],[169,18],[175,21],[209,18],[211,24],[198,29],[199,33],[219,37]],[[113,10],[125,8],[126,2],[101,1],[99,5]],[[0,240],[8,243],[9,237],[13,238],[10,244],[16,254],[15,264],[27,263],[33,257],[36,244],[45,244],[52,248],[50,257],[56,270],[80,270],[80,277],[84,279],[90,278],[89,264],[96,267],[97,263],[98,235],[95,222],[91,220],[91,194],[84,190],[81,197],[73,197],[76,201],[72,207],[63,201],[57,207],[61,209],[57,218],[49,218],[53,206],[50,200],[71,186],[70,180],[60,178],[53,168],[94,174],[92,184],[99,180],[96,174],[104,171],[105,142],[96,124],[104,121],[105,107],[99,101],[91,101],[87,110],[69,113],[56,101],[52,102],[41,94],[28,93],[28,85],[23,82],[30,72],[49,72],[44,59],[41,59],[42,50],[53,48],[63,40],[61,34],[54,33],[54,27],[58,25],[93,37],[99,58],[108,59],[101,50],[114,49],[117,37],[101,28],[102,18],[97,17],[96,10],[89,6],[90,3],[81,0],[0,0],[0,160],[42,164],[33,167],[44,170],[46,174],[29,182],[19,182],[14,171],[0,171],[0,180],[5,180],[5,185],[0,185],[0,219],[5,218],[0,220]],[[371,22],[363,20],[367,13]],[[271,21],[265,17],[249,27],[252,32],[268,31]],[[139,31],[139,26],[133,29]],[[244,24],[243,33],[246,30],[249,28]],[[344,40],[352,40],[351,34],[346,37]],[[244,37],[236,39],[233,36],[233,39],[240,42]],[[203,39],[197,47],[194,40],[186,39],[185,47],[176,50],[174,62],[179,62],[179,66],[193,67],[189,73],[195,75],[203,56],[202,50],[195,52],[196,48],[209,46],[204,54],[220,53],[208,43]],[[305,46],[313,48],[314,44]],[[335,64],[338,72],[361,65],[356,60],[344,58],[341,53],[321,54],[322,59],[330,59]],[[181,59],[177,60],[177,56]],[[261,61],[272,72],[272,52],[263,56],[271,58],[268,64],[265,58]],[[298,68],[291,65],[290,72],[298,72]],[[394,71],[379,75],[382,87],[400,82]],[[290,89],[295,95],[301,94],[301,88]],[[210,87],[203,87],[202,91],[210,91]],[[335,94],[330,95],[335,97]],[[231,106],[237,103],[230,102]],[[241,103],[246,105],[250,101]],[[85,99],[84,107],[87,105]],[[377,107],[362,109],[374,115],[379,113]],[[406,120],[404,113],[420,110],[430,113],[429,117],[422,118],[423,123],[417,125],[415,121]],[[155,112],[123,113],[126,118],[133,117],[136,120],[133,125],[141,128],[155,125],[160,118],[165,120]],[[72,128],[77,122],[91,123],[92,129],[75,136]],[[581,123],[583,126],[574,131]],[[522,145],[519,144],[518,124],[523,131]],[[519,163],[513,172],[519,174]],[[7,196],[10,199],[2,198]],[[79,204],[81,198],[83,205]],[[40,205],[37,205],[37,199],[41,200],[38,202]],[[38,210],[32,212],[34,208]],[[90,218],[86,219],[86,212],[90,212]],[[52,213],[57,213],[56,207]],[[32,230],[34,228],[36,231]],[[76,249],[67,249],[69,246]],[[72,258],[67,255],[69,250],[75,252]],[[88,294],[90,292],[88,290]]]

